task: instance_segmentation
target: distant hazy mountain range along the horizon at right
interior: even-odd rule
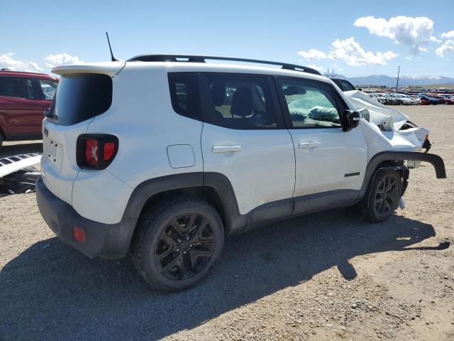
[[[345,77],[338,75],[336,78],[343,78],[350,81],[353,85],[384,85],[387,87],[396,86],[396,77],[389,77],[387,75],[370,75],[365,77]],[[399,85],[443,85],[454,84],[454,77],[445,76],[402,76],[399,77]]]

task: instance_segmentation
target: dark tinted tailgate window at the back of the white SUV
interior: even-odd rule
[[[106,112],[112,104],[112,80],[108,75],[64,75],[50,107],[50,121],[70,126]],[[53,117],[52,117],[53,116]]]

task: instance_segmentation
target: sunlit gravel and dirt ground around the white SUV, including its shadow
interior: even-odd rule
[[[399,109],[432,130],[448,179],[411,171],[406,209],[383,224],[333,210],[228,238],[182,293],[66,247],[35,195],[0,197],[0,339],[454,340],[454,106]]]

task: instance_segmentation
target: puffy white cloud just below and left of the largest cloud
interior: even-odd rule
[[[388,60],[398,56],[392,51],[366,52],[353,37],[344,40],[336,39],[331,45],[333,50],[328,54],[328,58],[343,60],[350,66],[387,65]]]

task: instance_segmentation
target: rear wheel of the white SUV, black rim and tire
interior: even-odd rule
[[[223,243],[223,223],[214,207],[177,197],[143,212],[131,247],[133,264],[151,286],[181,291],[208,274]]]

